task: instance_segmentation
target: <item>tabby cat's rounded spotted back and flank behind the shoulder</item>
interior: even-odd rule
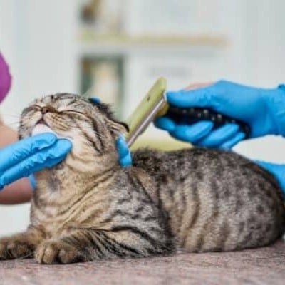
[[[279,184],[244,157],[193,148],[139,150],[133,158],[135,166],[155,178],[172,231],[188,250],[257,247],[284,232]]]

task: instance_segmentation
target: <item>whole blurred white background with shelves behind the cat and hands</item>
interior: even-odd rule
[[[169,90],[222,78],[277,86],[285,76],[284,11],[282,0],[0,0],[0,51],[13,76],[0,113],[17,128],[33,98],[90,90],[124,120],[160,76]],[[177,147],[153,127],[138,143]],[[281,138],[234,150],[285,161]],[[25,229],[28,208],[0,206],[0,235]]]

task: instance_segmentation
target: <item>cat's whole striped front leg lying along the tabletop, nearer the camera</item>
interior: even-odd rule
[[[169,253],[162,240],[145,232],[131,229],[104,231],[98,229],[73,229],[58,239],[43,241],[35,252],[41,264],[68,264],[114,257],[147,257]]]

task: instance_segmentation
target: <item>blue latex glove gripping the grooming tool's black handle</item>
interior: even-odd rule
[[[264,89],[218,81],[206,88],[168,92],[167,101],[176,107],[210,108],[239,119],[250,126],[251,138],[285,134],[284,86]],[[227,124],[215,130],[210,121],[177,125],[167,114],[158,118],[155,126],[167,130],[174,138],[204,147],[229,149],[245,136],[235,124]]]

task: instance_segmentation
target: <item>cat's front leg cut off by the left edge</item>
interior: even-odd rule
[[[43,232],[36,227],[28,227],[26,232],[0,239],[0,260],[31,258],[36,245],[43,240]]]

